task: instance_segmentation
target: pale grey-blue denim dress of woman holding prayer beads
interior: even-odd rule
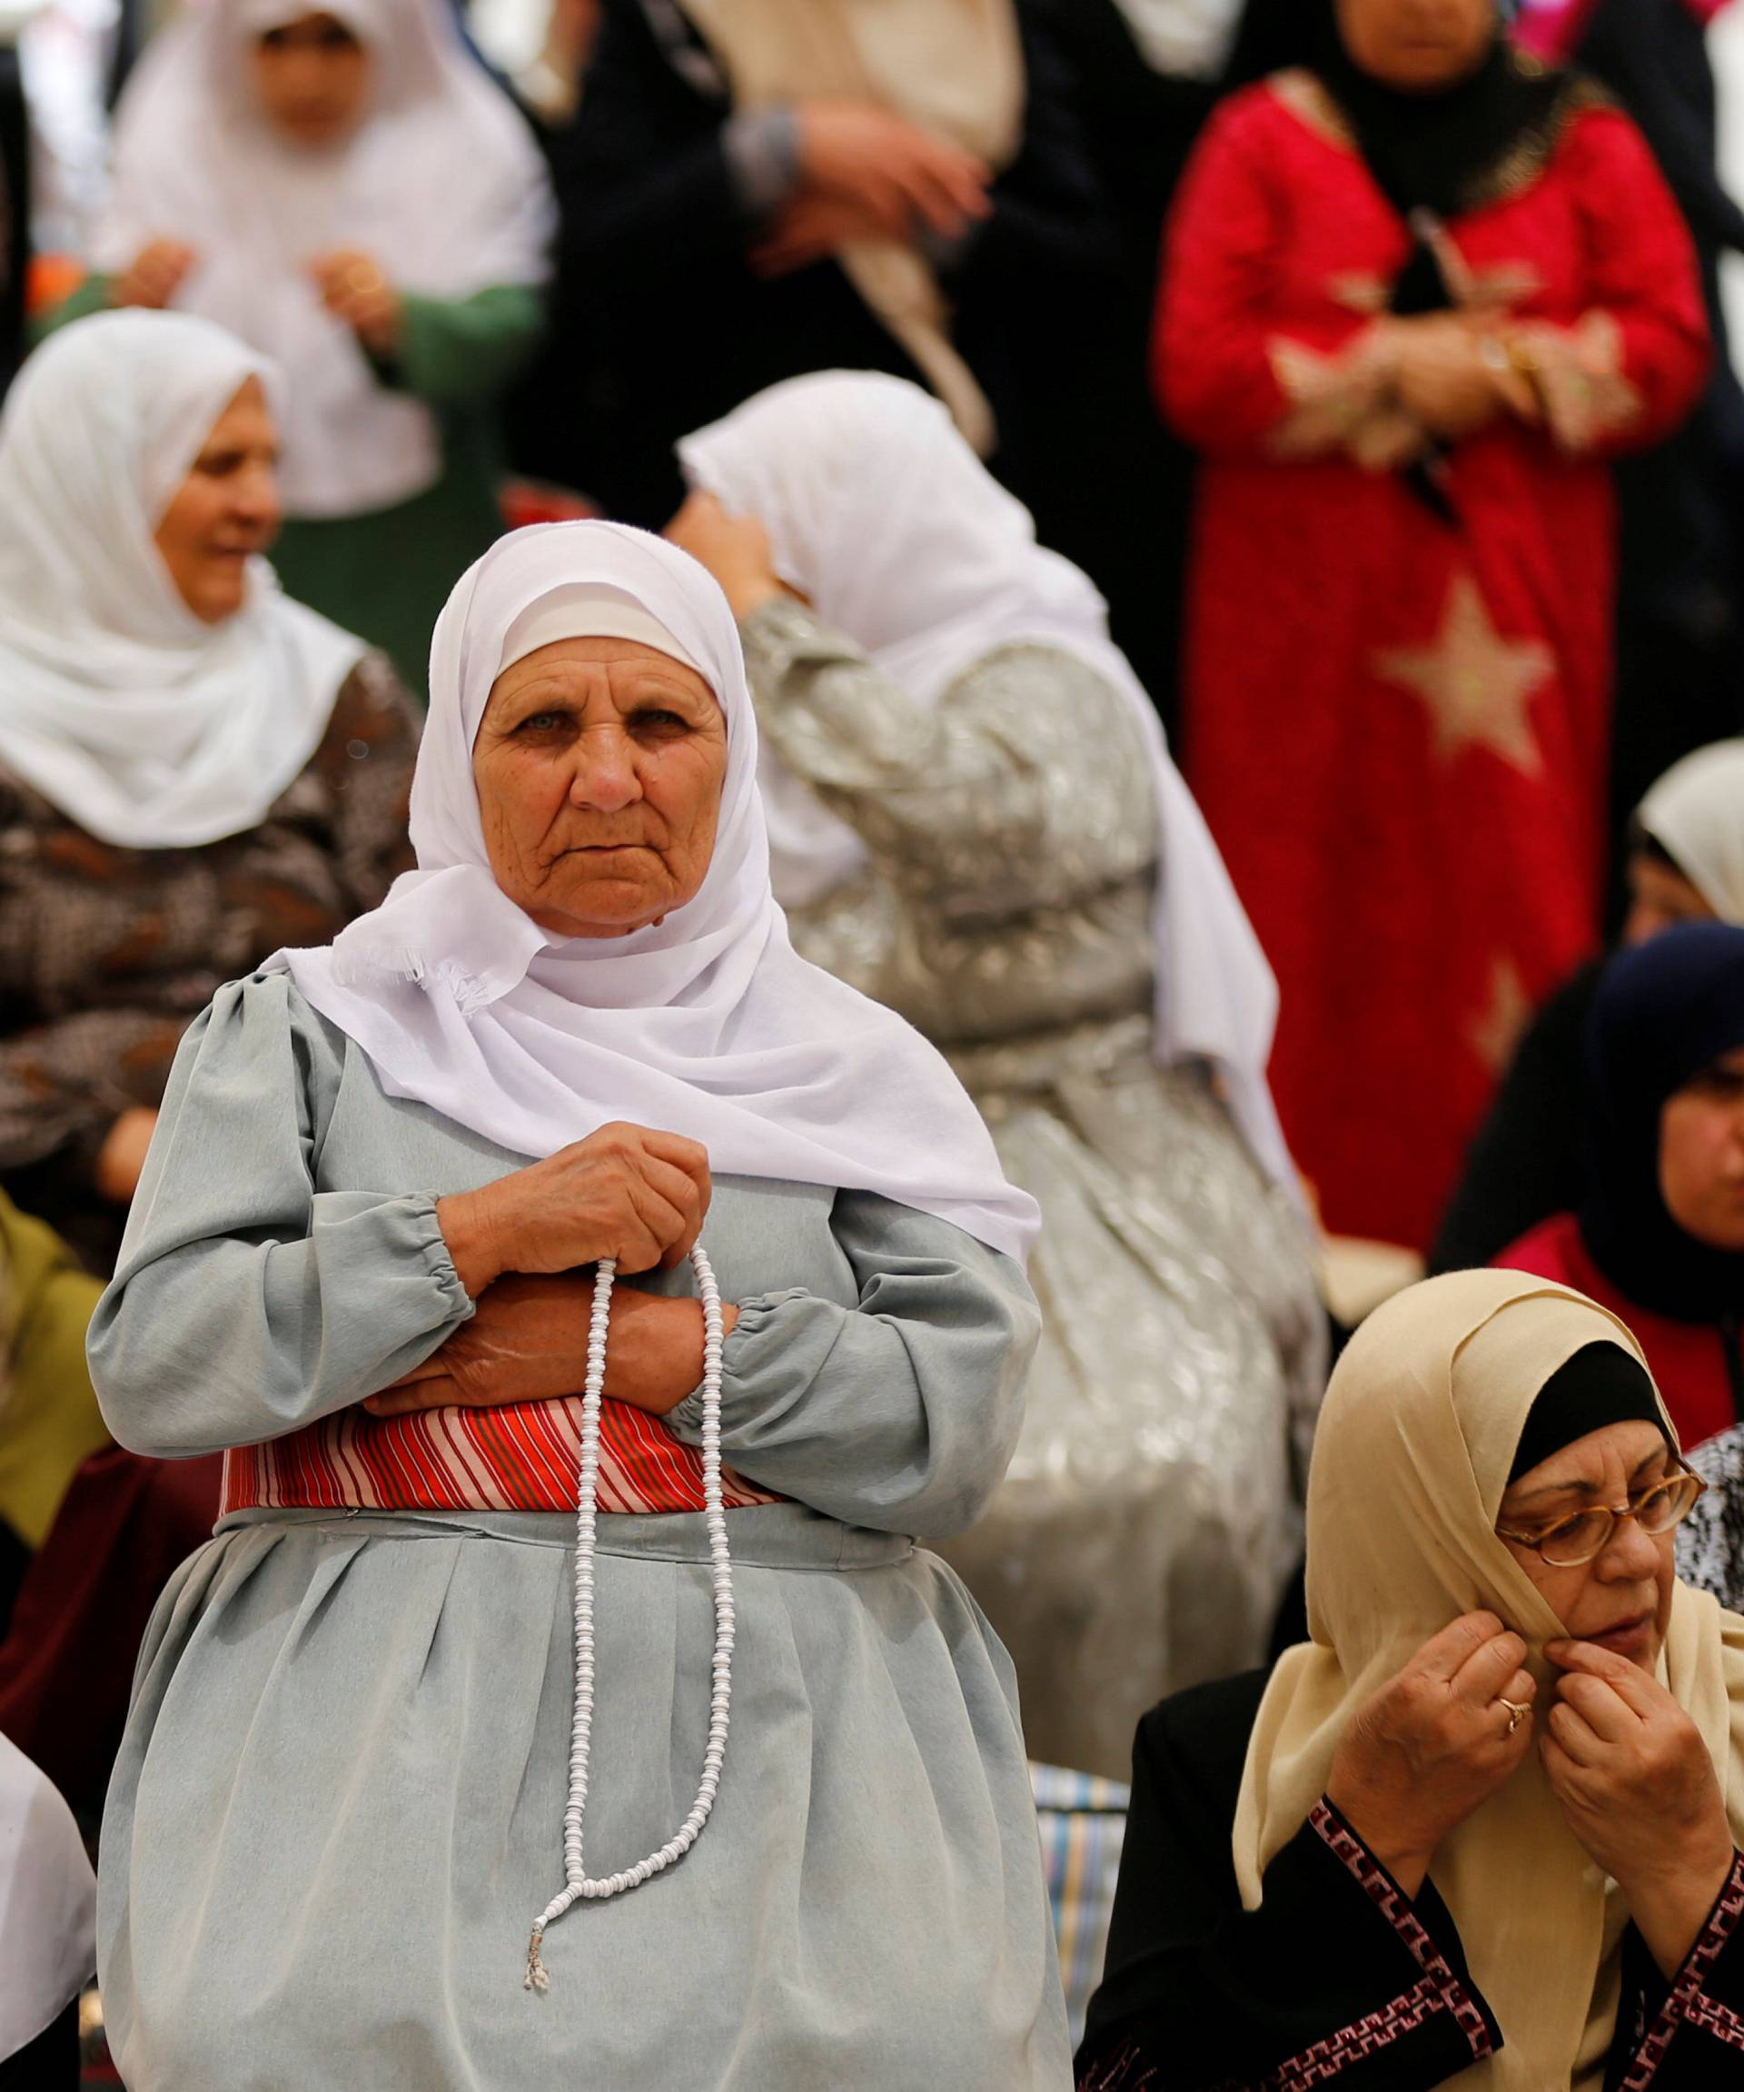
[[[385,1096],[284,975],[222,990],[92,1324],[117,1437],[257,1441],[395,1379],[473,1312],[435,1199],[519,1161]],[[560,1918],[525,1992],[563,1885],[573,1521],[234,1515],[157,1609],[102,1824],[132,2092],[1071,2084],[1010,1665],[912,1538],[995,1487],[1035,1301],[870,1195],[717,1180],[705,1241],[744,1310],[726,1454],[795,1500],[728,1515],[732,1730],[694,1851]],[[703,1519],[602,1519],[592,1872],[690,1807],[711,1651]]]

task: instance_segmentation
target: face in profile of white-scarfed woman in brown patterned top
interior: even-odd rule
[[[278,536],[278,431],[249,379],[207,433],[157,523],[176,592],[207,626],[243,609],[249,559]]]

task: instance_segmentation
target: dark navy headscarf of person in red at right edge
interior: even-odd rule
[[[1581,1234],[1631,1301],[1679,1322],[1744,1310],[1744,1253],[1711,1249],[1658,1186],[1660,1113],[1744,1046],[1744,929],[1679,923],[1604,969],[1587,1025],[1589,1178]]]

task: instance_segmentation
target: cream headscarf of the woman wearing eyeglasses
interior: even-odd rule
[[[1493,1527],[1537,1391],[1593,1341],[1642,1358],[1623,1322],[1579,1293],[1520,1272],[1453,1272],[1397,1295],[1345,1351],[1309,1475],[1313,1640],[1271,1676],[1236,1810],[1248,1910],[1326,1791],[1345,1724],[1460,1613],[1487,1607],[1522,1634],[1550,1703],[1541,1651],[1564,1630]],[[1675,1441],[1669,1416],[1665,1431]],[[1744,1835],[1744,1619],[1679,1584],[1660,1680],[1700,1728]],[[1430,1881],[1506,2044],[1449,2086],[1596,2092],[1629,1912],[1566,1828],[1535,1749],[1437,1851]]]

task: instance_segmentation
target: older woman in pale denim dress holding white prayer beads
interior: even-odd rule
[[[790,948],[755,772],[707,573],[519,531],[420,868],[182,1050],[90,1347],[228,1448],[102,1830],[134,2092],[1069,2082],[1010,1665],[914,1544],[1016,1439],[1035,1207]]]

